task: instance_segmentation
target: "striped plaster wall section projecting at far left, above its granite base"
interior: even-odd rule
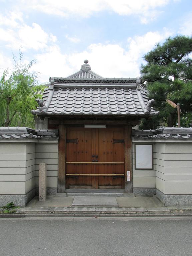
[[[0,142],[0,194],[25,195],[34,188],[35,143]]]

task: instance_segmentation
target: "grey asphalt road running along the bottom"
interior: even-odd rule
[[[192,217],[0,218],[0,255],[192,255]]]

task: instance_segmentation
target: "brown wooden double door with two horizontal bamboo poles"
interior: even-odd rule
[[[66,129],[66,188],[124,188],[124,128]]]

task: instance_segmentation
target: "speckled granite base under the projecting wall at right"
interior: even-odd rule
[[[192,195],[166,195],[156,189],[156,196],[164,206],[192,206]]]

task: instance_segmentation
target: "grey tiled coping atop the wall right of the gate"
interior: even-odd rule
[[[189,128],[163,127],[156,130],[133,130],[132,133],[133,133],[134,139],[136,140],[192,139],[192,127],[189,127]]]

